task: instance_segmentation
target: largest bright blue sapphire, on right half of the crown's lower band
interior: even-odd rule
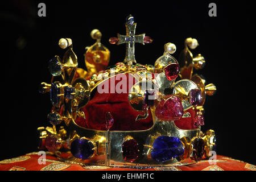
[[[184,146],[177,137],[160,136],[155,139],[151,150],[151,158],[156,162],[166,162],[184,153]]]

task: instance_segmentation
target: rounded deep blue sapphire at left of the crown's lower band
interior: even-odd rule
[[[88,139],[75,139],[71,143],[71,154],[79,159],[90,159],[94,154],[94,145]]]

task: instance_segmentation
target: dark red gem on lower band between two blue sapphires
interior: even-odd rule
[[[139,156],[138,143],[134,139],[127,139],[122,144],[123,159],[134,162]]]

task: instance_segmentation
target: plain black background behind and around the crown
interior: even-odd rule
[[[38,3],[46,3],[46,17]],[[208,15],[209,3],[217,17]],[[217,154],[256,164],[255,157],[255,19],[246,1],[8,1],[1,2],[1,125],[0,160],[37,150],[36,128],[49,126],[49,94],[38,93],[49,82],[48,60],[63,56],[60,38],[71,38],[79,67],[85,69],[84,48],[94,43],[90,31],[102,32],[111,51],[110,65],[122,61],[125,46],[108,39],[125,34],[125,18],[132,14],[137,34],[146,33],[152,44],[135,46],[138,63],[154,64],[167,42],[176,44],[177,58],[185,38],[200,44],[207,64],[196,73],[217,86],[204,105],[205,126],[217,135]]]

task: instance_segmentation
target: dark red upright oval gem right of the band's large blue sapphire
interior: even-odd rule
[[[204,140],[202,138],[195,138],[192,142],[192,159],[199,161],[204,155]]]

